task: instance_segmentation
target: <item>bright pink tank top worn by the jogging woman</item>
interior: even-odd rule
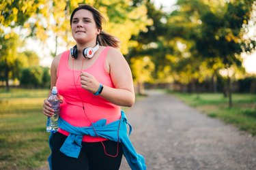
[[[104,48],[95,63],[83,71],[94,75],[96,80],[104,86],[115,88],[111,76],[105,69],[106,53],[108,50],[109,47]],[[110,103],[102,97],[96,96],[81,88],[79,76],[81,70],[72,70],[72,68],[69,67],[69,54],[70,50],[63,52],[57,69],[56,86],[59,95],[63,97],[59,116],[74,126],[91,126],[91,122],[96,122],[102,118],[106,119],[107,124],[118,120],[121,116],[121,109],[118,105]],[[74,86],[74,83],[76,86]],[[85,106],[85,112],[83,111],[82,102]],[[59,133],[69,135],[67,131],[63,131],[62,129],[59,129]],[[89,135],[83,136],[83,141],[87,142],[104,140],[106,139],[102,137],[91,137]]]

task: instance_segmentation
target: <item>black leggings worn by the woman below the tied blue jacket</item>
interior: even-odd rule
[[[82,149],[79,158],[71,158],[59,151],[67,136],[61,133],[53,135],[53,150],[52,150],[52,168],[53,170],[115,170],[119,169],[123,150],[119,143],[119,153],[113,158],[104,153],[104,148],[101,142],[82,142]],[[106,140],[103,141],[106,147],[106,153],[115,155],[117,152],[117,142]]]

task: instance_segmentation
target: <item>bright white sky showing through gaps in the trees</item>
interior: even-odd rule
[[[156,7],[160,7],[160,5],[163,6],[163,10],[170,12],[172,9],[172,6],[176,3],[177,0],[153,0]],[[251,31],[250,34],[255,35],[256,32],[256,27],[253,27],[253,30]],[[36,41],[30,41],[28,44],[33,44],[33,46],[31,46],[30,48],[32,48],[31,50],[33,50],[35,47],[40,48],[40,43],[36,42]],[[53,44],[53,40],[49,39],[47,44]],[[54,46],[54,45],[53,45]],[[51,61],[53,60],[53,58],[49,55],[50,52],[49,50],[51,50],[51,45],[50,47],[48,47],[47,49],[39,49],[40,51],[40,65],[44,65],[44,66],[48,66],[50,67],[51,65]],[[58,52],[64,51],[66,50],[65,48],[59,48]],[[254,52],[253,54],[242,54],[243,58],[244,58],[244,67],[246,69],[247,73],[256,73],[256,52]]]

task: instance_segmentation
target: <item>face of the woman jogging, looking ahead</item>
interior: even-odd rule
[[[72,36],[80,44],[96,41],[97,35],[100,34],[94,16],[88,10],[79,10],[74,14],[71,30]]]

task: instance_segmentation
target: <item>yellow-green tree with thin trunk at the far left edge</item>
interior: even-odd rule
[[[25,27],[25,24],[33,24],[33,28],[35,28],[39,25],[38,23],[42,23],[43,20],[38,20],[40,18],[38,14],[47,14],[43,12],[47,9],[46,4],[43,0],[14,0],[1,1],[0,3],[0,63],[4,67],[5,87],[7,90],[9,89],[10,70],[17,58],[18,39],[20,38],[17,32],[20,28]],[[40,36],[45,35],[41,34],[40,30],[42,29],[38,29],[37,34]],[[28,35],[31,33],[29,30],[27,32]]]

